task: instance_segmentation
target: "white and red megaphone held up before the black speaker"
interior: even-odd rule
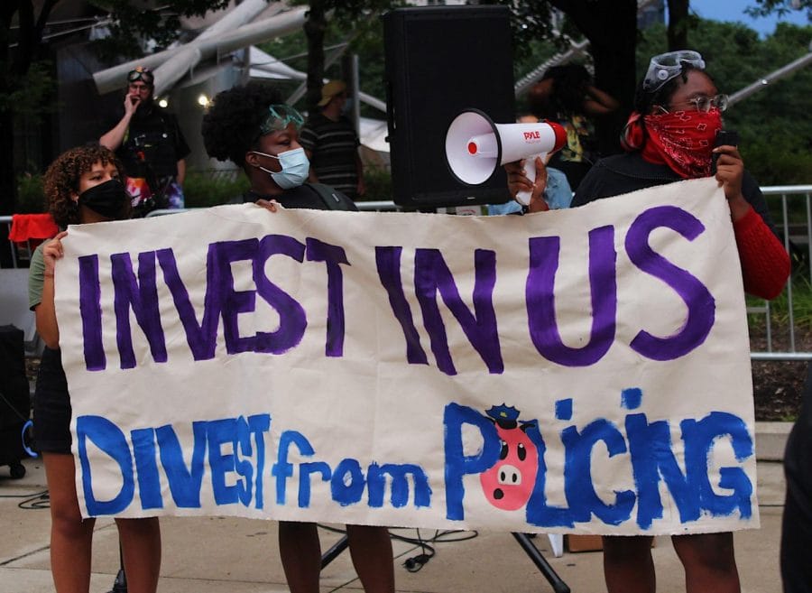
[[[524,171],[536,180],[536,157],[555,153],[567,142],[561,125],[494,124],[479,109],[466,109],[451,122],[446,133],[446,160],[457,180],[467,185],[484,183],[496,167],[526,159]],[[527,206],[531,192],[520,191],[516,200]]]

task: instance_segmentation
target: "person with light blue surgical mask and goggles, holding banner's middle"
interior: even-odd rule
[[[302,117],[272,87],[249,83],[223,91],[203,117],[209,156],[245,171],[251,188],[241,201],[285,208],[356,210],[337,190],[306,183],[309,162],[299,144]],[[304,394],[302,394],[304,395]],[[302,405],[307,405],[306,398]],[[353,565],[366,593],[393,593],[392,542],[385,527],[347,525]],[[279,548],[291,593],[318,593],[321,546],[317,525],[281,521]]]

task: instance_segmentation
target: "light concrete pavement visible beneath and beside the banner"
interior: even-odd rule
[[[757,438],[758,442],[758,438]],[[768,456],[769,457],[769,456]],[[51,515],[42,462],[23,462],[26,475],[8,477],[0,468],[0,593],[53,591],[50,570]],[[761,528],[734,534],[745,593],[780,593],[780,522],[784,501],[780,460],[758,462]],[[162,593],[287,593],[277,549],[277,524],[233,517],[161,518]],[[420,570],[403,566],[421,552],[416,530],[392,530],[399,593],[530,593],[552,591],[548,581],[510,533],[440,534],[435,555]],[[435,532],[420,530],[424,540]],[[320,530],[324,551],[340,534]],[[532,539],[549,565],[574,592],[605,591],[602,552],[569,552],[555,558],[548,538]],[[119,569],[118,538],[112,520],[99,519],[94,534],[91,593],[111,591]],[[684,574],[668,537],[653,549],[659,593],[684,591]],[[321,591],[361,591],[349,554],[339,554],[321,573]]]

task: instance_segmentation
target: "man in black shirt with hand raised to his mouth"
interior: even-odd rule
[[[152,70],[127,74],[124,115],[110,117],[99,144],[124,163],[134,216],[154,208],[183,208],[183,180],[189,145],[177,118],[154,101]]]

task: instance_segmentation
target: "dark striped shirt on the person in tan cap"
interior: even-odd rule
[[[310,153],[310,166],[319,183],[332,186],[349,198],[357,197],[358,136],[344,116],[334,122],[318,114],[302,126],[299,143]]]

